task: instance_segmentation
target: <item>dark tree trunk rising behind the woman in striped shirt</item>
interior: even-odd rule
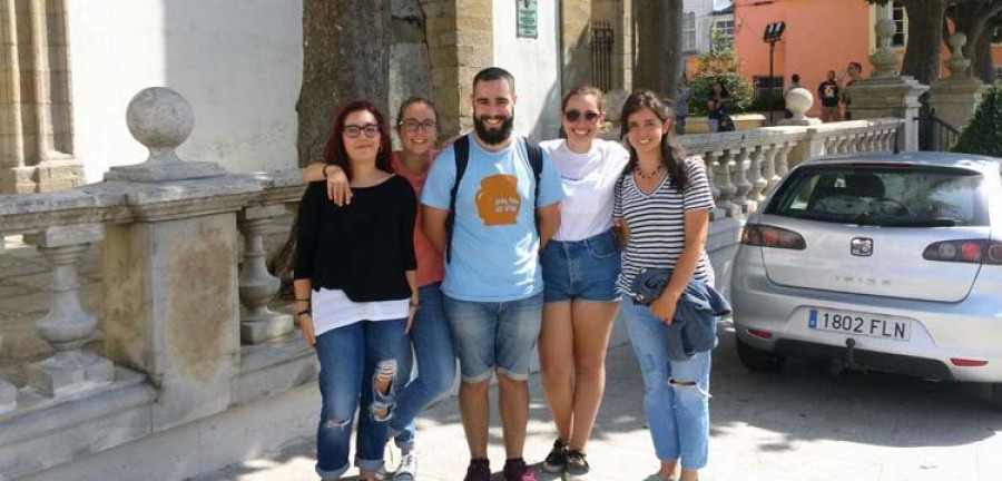
[[[637,0],[633,87],[675,98],[682,73],[682,0]]]

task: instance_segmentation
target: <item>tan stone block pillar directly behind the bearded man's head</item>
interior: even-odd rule
[[[450,138],[473,128],[473,76],[494,61],[491,0],[421,0],[431,59],[439,131]]]

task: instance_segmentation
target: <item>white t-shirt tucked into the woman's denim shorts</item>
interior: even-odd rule
[[[587,154],[574,154],[567,140],[540,143],[550,157],[560,184],[560,228],[554,240],[583,240],[612,227],[612,188],[630,159],[630,154],[616,141],[595,139]]]

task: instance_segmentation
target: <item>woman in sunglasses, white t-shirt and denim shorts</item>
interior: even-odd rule
[[[559,438],[543,462],[551,473],[589,471],[584,445],[606,386],[606,349],[619,308],[619,249],[611,233],[612,188],[629,159],[615,141],[598,139],[601,90],[582,86],[563,97],[566,139],[541,144],[560,173],[566,198],[560,228],[547,244],[539,361]]]

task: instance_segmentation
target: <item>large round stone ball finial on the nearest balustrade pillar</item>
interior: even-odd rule
[[[129,101],[126,124],[132,137],[149,148],[147,163],[175,163],[181,161],[175,149],[191,134],[195,112],[177,91],[150,87]]]

